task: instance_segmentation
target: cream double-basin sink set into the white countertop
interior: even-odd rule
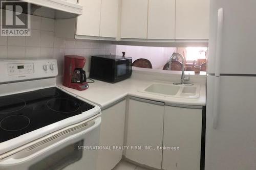
[[[192,86],[174,85],[172,83],[153,83],[140,92],[163,95],[166,97],[196,99],[200,95],[200,85]]]

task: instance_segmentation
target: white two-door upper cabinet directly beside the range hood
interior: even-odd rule
[[[120,0],[82,0],[82,15],[77,18],[76,35],[117,37]]]

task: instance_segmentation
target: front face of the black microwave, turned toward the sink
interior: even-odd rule
[[[117,60],[115,62],[115,80],[118,82],[132,75],[132,59]]]

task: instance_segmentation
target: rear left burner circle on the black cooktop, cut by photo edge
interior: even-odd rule
[[[2,98],[0,99],[0,114],[11,113],[22,110],[26,102],[19,98]]]

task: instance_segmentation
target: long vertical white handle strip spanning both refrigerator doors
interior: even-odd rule
[[[217,45],[215,60],[215,86],[214,86],[214,109],[213,109],[213,128],[217,129],[219,118],[219,91],[220,91],[220,60],[222,54],[222,34],[223,34],[223,8],[218,10],[217,25]]]

